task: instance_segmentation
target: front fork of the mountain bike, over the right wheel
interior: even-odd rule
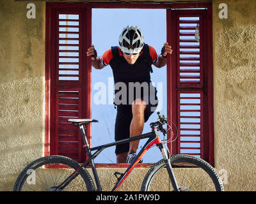
[[[172,165],[170,163],[170,154],[169,154],[169,156],[167,155],[163,143],[157,144],[157,147],[161,150],[161,153],[163,155],[164,162],[166,163],[166,169],[167,169],[169,177],[171,179],[173,189],[174,189],[174,191],[179,191],[179,186],[178,186],[177,181],[175,179],[175,175],[174,175],[173,170],[172,170]]]

